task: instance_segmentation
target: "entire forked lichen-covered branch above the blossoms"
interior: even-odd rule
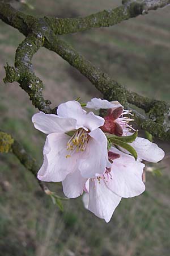
[[[118,12],[120,15],[117,19],[118,22],[142,14],[143,11],[147,12],[148,10],[155,10],[158,7],[168,5],[170,0],[130,0],[123,2],[124,5],[121,6],[121,10],[124,9],[124,12],[123,14]],[[110,24],[116,24],[116,21],[116,23],[113,22],[115,18],[113,15],[115,14],[115,10],[116,9],[110,11],[110,16],[107,16],[109,14],[106,13],[106,11],[91,15],[91,22],[88,26],[105,26],[107,24],[110,26]],[[129,16],[125,17],[124,15],[126,15],[127,12]],[[100,71],[99,68],[92,65],[90,61],[86,60],[69,44],[59,39],[54,34],[54,32],[56,32],[56,26],[58,30],[62,27],[62,31],[56,33],[66,34],[64,30],[67,29],[67,27],[69,29],[69,23],[67,24],[67,22],[72,19],[61,19],[65,20],[66,24],[60,26],[59,23],[57,23],[54,26],[53,23],[50,23],[53,19],[27,16],[1,2],[0,18],[7,24],[18,28],[20,32],[23,32],[23,34],[27,36],[16,51],[15,68],[9,67],[8,65],[6,67],[5,82],[18,81],[22,89],[29,94],[33,105],[39,108],[39,110],[42,110],[45,113],[55,113],[56,110],[50,109],[50,102],[45,101],[42,97],[42,81],[35,76],[31,64],[33,54],[36,53],[41,46],[45,46],[58,53],[58,55],[78,69],[98,90],[100,90],[101,93],[103,93],[104,98],[107,98],[107,100],[118,100],[122,105],[125,105],[126,108],[129,108],[129,104],[133,104],[138,108],[145,110],[147,114],[145,117],[142,117],[138,112],[135,114],[135,121],[138,123],[139,127],[147,130],[152,135],[155,135],[162,140],[170,141],[170,106],[168,103],[151,100],[150,98],[140,96],[137,93],[130,92],[124,85],[112,80],[107,73]],[[97,18],[96,21],[95,18]],[[81,20],[83,19],[87,19],[87,17],[82,18]],[[103,22],[101,22],[100,19],[103,20]],[[82,26],[84,27],[80,29],[84,30],[86,26]],[[75,28],[74,30],[71,30],[71,32],[75,32]]]

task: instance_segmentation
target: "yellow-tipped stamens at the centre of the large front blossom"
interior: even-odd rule
[[[67,142],[67,150],[70,151],[70,154],[66,155],[66,158],[69,158],[74,152],[82,152],[86,150],[89,139],[90,136],[88,135],[88,131],[85,131],[82,128],[76,130]]]

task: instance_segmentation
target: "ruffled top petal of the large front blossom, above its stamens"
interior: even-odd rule
[[[85,130],[95,130],[104,124],[104,118],[87,112],[82,109],[78,101],[67,101],[58,106],[57,114],[60,117],[76,119],[76,129],[80,127]]]

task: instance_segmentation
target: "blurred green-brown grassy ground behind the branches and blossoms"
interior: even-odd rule
[[[34,9],[16,8],[36,16],[74,18],[113,9],[120,0],[30,0]],[[170,98],[170,6],[109,28],[63,36],[97,67],[128,89],[157,100]],[[14,65],[15,50],[24,39],[0,20],[1,129],[14,135],[41,165],[45,135],[33,128],[37,112],[18,84],[3,84],[6,62]],[[41,48],[33,57],[44,96],[53,106],[100,93],[56,53]],[[60,212],[37,181],[12,154],[0,155],[0,256],[169,256],[170,172],[168,144],[162,175],[147,173],[146,192],[123,199],[106,224],[83,208],[82,199],[66,201]],[[58,184],[50,184],[62,195]]]

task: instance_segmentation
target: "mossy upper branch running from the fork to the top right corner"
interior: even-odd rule
[[[170,3],[170,0],[124,0],[116,9],[100,11],[84,18],[49,18],[45,17],[55,34],[63,35],[91,28],[109,27],[124,20],[134,18],[149,10],[156,10]]]

